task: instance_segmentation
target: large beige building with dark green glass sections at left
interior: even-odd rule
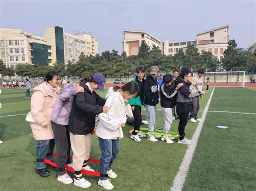
[[[98,42],[91,34],[65,33],[61,26],[48,27],[44,37],[0,29],[0,59],[6,67],[16,67],[18,63],[52,65],[57,61],[67,64],[69,60],[77,61],[81,53],[98,53]]]

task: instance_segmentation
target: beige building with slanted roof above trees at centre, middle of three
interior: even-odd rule
[[[146,31],[124,30],[123,34],[123,51],[126,52],[127,56],[137,55],[139,46],[143,41],[151,48],[155,45],[161,49],[161,41]]]

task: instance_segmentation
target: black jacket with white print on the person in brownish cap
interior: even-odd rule
[[[144,104],[155,106],[158,104],[158,81],[148,75],[144,83]]]

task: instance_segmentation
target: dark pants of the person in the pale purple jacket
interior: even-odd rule
[[[65,165],[70,164],[70,136],[68,131],[68,125],[59,125],[51,121],[52,131],[55,139],[55,144],[57,147],[57,165],[58,165],[58,175],[63,175],[65,170]]]

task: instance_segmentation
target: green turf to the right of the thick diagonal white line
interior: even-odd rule
[[[208,110],[255,114],[255,90],[216,88]],[[184,190],[256,190],[255,121],[256,115],[208,112]]]

